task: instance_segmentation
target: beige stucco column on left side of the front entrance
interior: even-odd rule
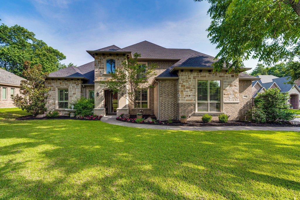
[[[95,81],[95,109],[94,113],[96,115],[105,116],[105,108],[104,108],[104,87],[100,85],[99,82]],[[97,92],[99,96],[97,96]]]

